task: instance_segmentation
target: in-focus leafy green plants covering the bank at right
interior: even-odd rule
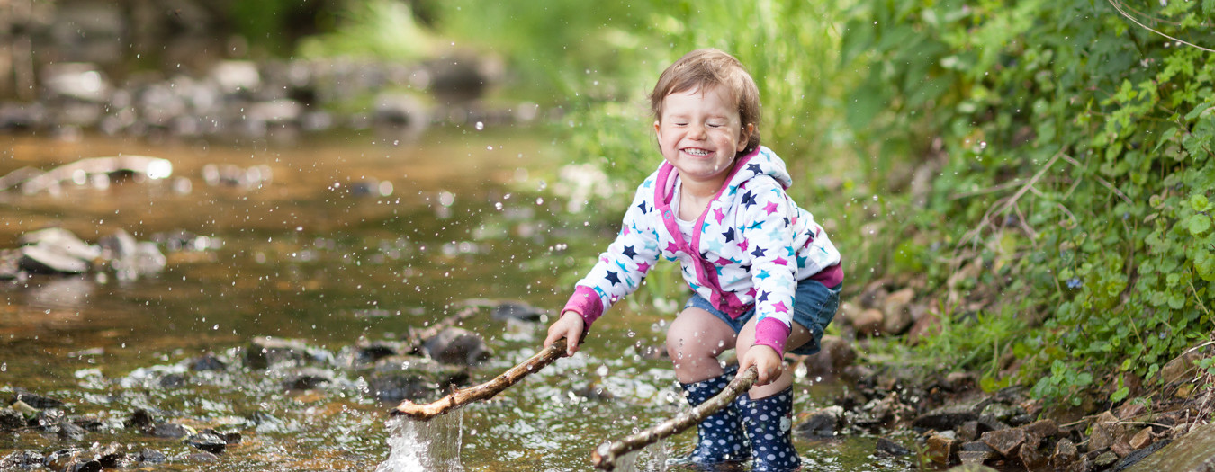
[[[1215,45],[1197,2],[1140,13]],[[927,211],[956,251],[937,265],[994,260],[989,241],[1021,235],[1030,257],[1007,279],[1035,303],[1015,351],[1036,394],[1080,402],[1094,375],[1151,377],[1209,334],[1211,53],[1079,0],[869,2],[844,38],[843,59],[870,70],[848,119],[875,166],[944,143]]]

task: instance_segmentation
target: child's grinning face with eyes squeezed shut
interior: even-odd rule
[[[667,95],[662,116],[654,123],[662,157],[684,184],[706,184],[713,190],[725,181],[752,130],[751,124],[744,129],[738,107],[720,86]]]

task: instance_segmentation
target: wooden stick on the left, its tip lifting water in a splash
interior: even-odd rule
[[[495,377],[493,380],[468,387],[460,388],[452,392],[451,394],[440,398],[435,402],[419,405],[417,403],[403,400],[396,408],[389,410],[391,415],[405,415],[414,420],[430,421],[430,419],[446,414],[447,411],[463,406],[465,404],[476,400],[487,400],[493,398],[493,396],[507,389],[512,385],[518,383],[520,380],[526,377],[529,374],[543,369],[546,365],[552,364],[554,360],[565,356],[565,339],[560,339],[552,346],[546,347],[543,351],[536,353],[530,359],[524,360],[519,365],[510,368],[502,375]]]

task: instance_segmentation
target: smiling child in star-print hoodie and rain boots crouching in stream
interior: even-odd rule
[[[759,92],[738,59],[689,52],[659,78],[650,107],[665,161],[638,187],[620,235],[577,283],[544,346],[564,336],[573,356],[582,334],[660,256],[678,260],[694,295],[667,330],[667,352],[688,402],[712,398],[733,379],[717,360],[730,347],[738,369],[759,374],[731,408],[700,423],[688,459],[753,457],[753,471],[796,470],[784,353],[819,351],[840,300],[840,252],[785,193],[785,163],[759,146]]]

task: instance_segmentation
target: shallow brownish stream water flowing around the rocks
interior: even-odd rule
[[[360,339],[397,339],[470,298],[559,308],[615,228],[601,217],[566,212],[544,192],[553,184],[544,178],[569,159],[537,131],[446,129],[408,144],[372,133],[292,144],[96,136],[0,136],[0,175],[118,154],[174,165],[174,178],[165,181],[5,192],[0,249],[49,226],[89,243],[118,229],[139,240],[185,231],[211,241],[203,251],[168,254],[163,273],[137,280],[90,274],[0,282],[0,397],[7,402],[24,388],[67,402],[69,415],[118,426],[83,442],[39,431],[0,434],[0,456],[117,440],[176,457],[160,470],[199,468],[185,459],[193,450],[181,439],[120,427],[136,408],[154,408],[199,430],[242,432],[241,444],[205,464],[214,471],[408,470],[413,462],[401,456],[414,440],[423,445],[418,454],[443,455],[445,468],[587,471],[605,439],[685,408],[669,362],[643,356],[662,346],[672,315],[644,305],[614,308],[573,358],[446,423],[411,425],[408,433],[385,414],[392,405],[368,396],[355,376],[339,371],[324,387],[294,391],[282,388],[275,373],[239,366],[239,349],[256,336],[303,339],[338,352]],[[261,166],[272,178],[211,186],[208,164]],[[488,315],[465,323],[495,351],[471,370],[471,381],[530,357],[546,326]],[[236,373],[183,371],[208,352],[233,362]],[[183,382],[165,386],[169,374]],[[795,410],[806,413],[831,405],[847,387],[799,379],[796,388]],[[590,393],[597,391],[608,396]],[[267,415],[272,421],[250,420]],[[643,453],[637,468],[661,470],[665,455],[684,454],[694,439],[694,431],[669,438],[665,451]],[[876,440],[849,436],[797,445],[809,471],[912,468],[908,459],[872,456]]]

